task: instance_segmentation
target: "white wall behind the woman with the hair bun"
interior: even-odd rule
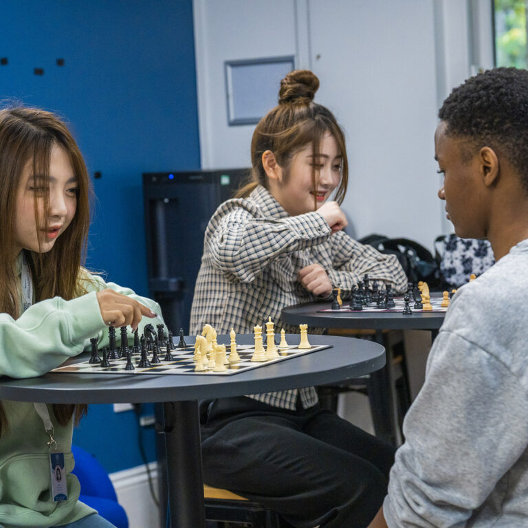
[[[227,124],[224,61],[294,55],[296,67],[320,78],[316,101],[347,135],[343,208],[353,234],[407,236],[431,248],[452,231],[436,194],[437,110],[481,58],[474,42],[491,38],[486,2],[194,0],[202,167],[250,164],[254,126]]]

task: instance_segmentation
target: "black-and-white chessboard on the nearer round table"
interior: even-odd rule
[[[228,345],[229,350],[229,345]],[[155,375],[177,375],[177,374],[199,374],[199,375],[232,375],[239,372],[249,371],[250,369],[258,369],[261,366],[269,365],[279,361],[288,360],[289,358],[296,358],[303,354],[308,354],[322,349],[331,348],[331,345],[311,347],[309,349],[299,349],[296,345],[289,345],[285,350],[278,351],[278,358],[266,360],[264,362],[252,362],[251,358],[255,351],[252,345],[236,345],[236,351],[239,353],[240,361],[236,363],[226,364],[227,370],[222,372],[214,372],[212,369],[206,371],[195,371],[194,345],[186,346],[185,348],[176,347],[172,351],[173,360],[164,361],[163,354],[159,355],[159,363],[152,363],[148,367],[137,366],[140,361],[140,355],[134,354],[131,356],[133,370],[125,370],[127,358],[109,360],[110,365],[101,367],[100,364],[91,364],[88,360],[65,364],[53,369],[52,372],[58,373],[89,373],[89,374],[155,374]]]

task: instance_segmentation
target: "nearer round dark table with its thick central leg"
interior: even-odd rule
[[[298,335],[286,336],[289,344]],[[194,344],[194,337],[186,337]],[[385,364],[384,348],[377,343],[334,336],[309,336],[313,345],[329,349],[275,362],[234,375],[111,375],[47,373],[13,380],[0,377],[0,399],[48,404],[113,404],[163,402],[166,473],[171,528],[205,528],[201,473],[198,399],[283,391],[347,380]],[[218,336],[229,343],[229,336]],[[252,335],[236,336],[238,344],[253,344]],[[87,359],[87,354],[67,361]]]

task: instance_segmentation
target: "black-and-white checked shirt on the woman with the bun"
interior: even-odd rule
[[[407,278],[394,255],[362,245],[343,231],[331,234],[318,212],[290,217],[263,186],[246,199],[225,201],[206,228],[203,256],[190,314],[191,333],[209,323],[218,333],[252,333],[268,317],[278,331],[298,333],[298,327],[281,321],[281,309],[309,303],[316,297],[298,281],[303,267],[318,263],[341,297],[351,297],[353,285],[368,273],[396,292],[406,289]],[[322,333],[322,329],[309,329]],[[318,399],[314,387],[248,395],[265,404],[295,410]]]

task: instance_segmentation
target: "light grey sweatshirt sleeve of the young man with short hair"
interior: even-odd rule
[[[528,397],[498,355],[441,331],[391,470],[389,528],[463,527],[528,445]]]

